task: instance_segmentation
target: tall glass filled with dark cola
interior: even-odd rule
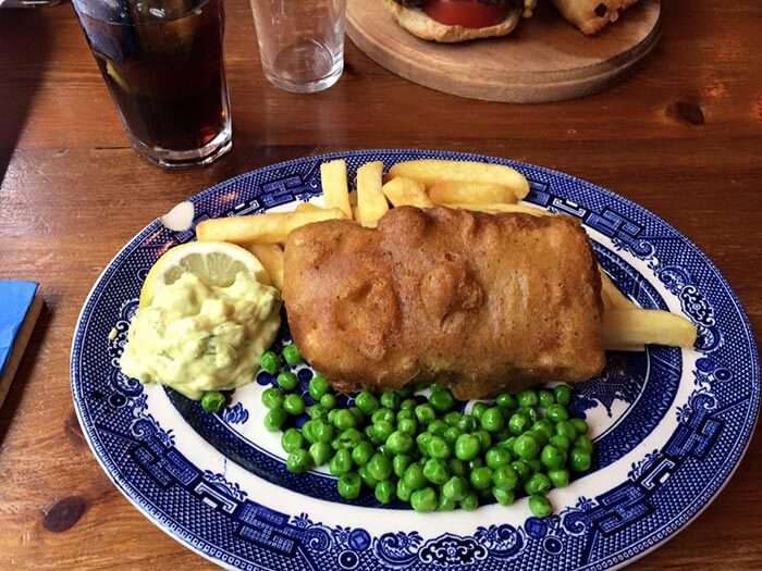
[[[135,150],[167,169],[232,147],[223,0],[73,0]]]

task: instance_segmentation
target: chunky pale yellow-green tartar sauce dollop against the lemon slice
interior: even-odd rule
[[[278,334],[281,299],[274,287],[238,272],[226,287],[183,273],[137,310],[122,353],[122,372],[161,383],[198,400],[254,381]]]

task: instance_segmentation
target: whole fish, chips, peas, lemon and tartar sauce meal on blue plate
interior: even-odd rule
[[[321,203],[205,220],[168,250],[121,364],[211,413],[259,371],[286,468],[328,467],[343,499],[428,512],[526,494],[548,517],[546,494],[594,466],[574,384],[606,350],[696,343],[614,285],[576,219],[523,203],[513,169],[370,162],[351,191],[335,160],[321,183]],[[293,343],[275,349],[281,302]]]

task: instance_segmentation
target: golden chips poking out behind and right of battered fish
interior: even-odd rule
[[[352,220],[372,228],[390,204],[554,215],[520,203],[529,194],[528,181],[519,172],[497,164],[406,161],[396,163],[384,176],[381,161],[369,162],[357,170],[355,191],[349,191],[344,160],[323,163],[320,176],[323,207],[304,202],[294,212],[207,220],[196,227],[197,238],[245,246],[262,263],[272,284],[282,289],[283,245],[292,231],[314,222]],[[651,344],[693,347],[697,328],[690,321],[668,311],[639,308],[617,289],[602,269],[599,270],[606,349],[638,351]]]

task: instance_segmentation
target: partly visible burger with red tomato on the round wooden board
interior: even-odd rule
[[[537,0],[383,0],[397,23],[421,39],[441,42],[507,36]]]

